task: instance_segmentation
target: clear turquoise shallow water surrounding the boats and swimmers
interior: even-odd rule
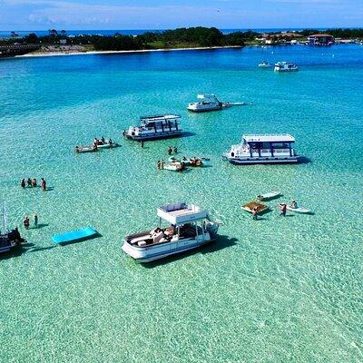
[[[300,72],[259,70],[263,58]],[[358,45],[1,61],[0,200],[12,226],[37,212],[44,227],[0,260],[0,361],[363,361],[362,64]],[[254,105],[187,113],[197,93]],[[180,113],[192,135],[123,142],[148,113]],[[222,162],[250,132],[290,132],[311,162]],[[95,135],[123,146],[74,154]],[[211,167],[157,172],[169,145]],[[33,176],[53,190],[23,191]],[[271,190],[315,214],[282,219],[278,201],[262,221],[240,211]],[[220,239],[150,266],[125,256],[123,236],[172,201],[209,209]],[[86,225],[103,237],[53,246]]]

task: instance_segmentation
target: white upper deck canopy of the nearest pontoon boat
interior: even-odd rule
[[[185,202],[166,204],[158,208],[157,214],[175,226],[208,218],[207,211],[193,204],[187,205]]]

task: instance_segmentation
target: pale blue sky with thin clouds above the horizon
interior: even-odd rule
[[[363,26],[363,0],[0,0],[0,30]]]

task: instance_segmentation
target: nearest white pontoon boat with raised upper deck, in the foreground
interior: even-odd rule
[[[219,224],[207,211],[185,202],[166,204],[157,209],[159,227],[131,234],[123,241],[123,251],[139,262],[196,249],[215,240]],[[162,221],[169,227],[162,227]]]

